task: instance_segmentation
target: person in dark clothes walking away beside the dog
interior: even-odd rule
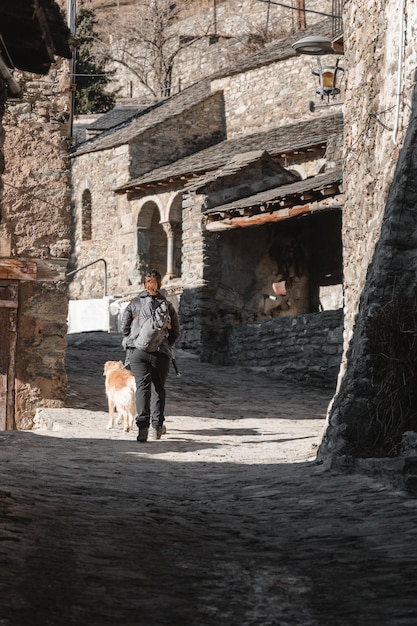
[[[149,429],[153,439],[160,439],[166,433],[165,421],[165,383],[169,373],[170,360],[174,357],[174,344],[181,331],[178,314],[171,302],[161,292],[162,277],[156,269],[145,272],[141,291],[127,305],[121,322],[124,335],[123,346],[127,350],[130,368],[136,381],[136,425],[139,428],[137,440],[145,443]],[[144,326],[144,311],[156,307],[162,301],[168,307],[168,323],[163,331],[160,345],[152,351],[135,347],[132,336],[132,324]],[[142,317],[141,317],[142,310]],[[146,324],[146,321],[145,321]],[[140,329],[139,329],[140,332]],[[136,341],[137,345],[140,345]]]

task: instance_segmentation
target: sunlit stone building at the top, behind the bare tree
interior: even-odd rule
[[[169,20],[169,24],[161,21],[162,43],[158,41],[162,64],[171,63],[170,95],[189,87],[197,77],[223,71],[268,42],[310,28],[320,22],[323,15],[337,13],[339,4],[340,0],[298,0],[292,6],[260,0],[182,0],[175,3],[172,13],[175,18]],[[133,15],[130,28],[126,30],[129,10]],[[112,87],[118,90],[118,98],[138,104],[152,102],[155,95],[138,80],[137,75],[145,78],[146,85],[151,83],[155,91],[149,73],[145,76],[137,61],[141,58],[141,31],[147,32],[147,39],[152,39],[149,24],[141,21],[135,7],[128,4],[123,14],[115,12],[113,19],[109,19],[106,12],[103,21],[112,24],[107,38],[104,34],[108,30],[106,24],[102,26],[104,38],[109,40],[108,53],[113,59],[123,61],[109,65],[110,70],[115,70],[111,81]],[[122,29],[119,31],[120,22]]]

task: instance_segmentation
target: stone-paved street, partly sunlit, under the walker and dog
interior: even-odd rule
[[[416,626],[417,500],[315,461],[331,390],[178,354],[167,430],[106,430],[119,337],[0,433],[0,626]]]

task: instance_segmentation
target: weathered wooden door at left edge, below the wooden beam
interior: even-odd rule
[[[16,363],[17,284],[0,282],[0,430],[13,430]]]

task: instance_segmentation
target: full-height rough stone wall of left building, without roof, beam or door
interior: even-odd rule
[[[15,73],[17,80],[22,76]],[[67,328],[66,265],[70,248],[69,73],[58,62],[48,76],[25,76],[23,95],[3,118],[5,171],[0,256],[30,260],[19,289],[15,426],[30,428],[36,408],[62,406]],[[4,285],[6,281],[2,281]]]

